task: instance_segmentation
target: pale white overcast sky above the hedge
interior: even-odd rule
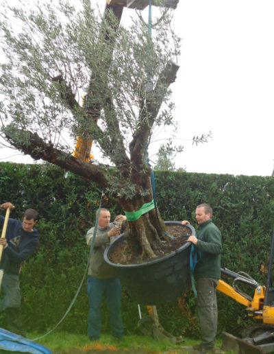
[[[102,6],[105,1],[101,0]],[[125,9],[123,21],[134,10]],[[155,13],[155,8],[152,10]],[[147,16],[147,12],[143,12]],[[176,167],[188,172],[271,176],[274,167],[274,1],[179,0],[175,32],[182,38],[177,80],[171,86]],[[195,135],[212,132],[208,143]],[[151,144],[151,160],[169,132]],[[163,142],[163,141],[162,141]],[[0,161],[29,163],[1,149]]]

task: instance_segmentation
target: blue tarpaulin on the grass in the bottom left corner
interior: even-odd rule
[[[27,338],[21,337],[21,335],[14,334],[6,329],[0,328],[0,353],[3,353],[3,351],[52,354],[52,352],[45,346],[31,342]]]

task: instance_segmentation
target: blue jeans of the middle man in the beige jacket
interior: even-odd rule
[[[116,338],[123,337],[123,323],[121,316],[121,283],[119,278],[97,279],[88,275],[88,336],[99,339],[101,331],[100,307],[103,295],[110,311],[110,327],[112,335]]]

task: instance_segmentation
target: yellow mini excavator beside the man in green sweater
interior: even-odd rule
[[[243,338],[237,338],[232,334],[223,332],[224,351],[233,351],[240,354],[260,354],[274,352],[274,288],[272,285],[273,275],[273,250],[274,229],[271,240],[269,256],[269,269],[266,285],[260,285],[257,281],[243,272],[232,272],[226,268],[221,269],[221,278],[216,290],[234,298],[244,305],[247,314],[256,321],[251,327],[247,327],[242,333]],[[229,276],[233,279],[232,286],[223,279]],[[238,284],[242,283],[254,289],[253,298],[242,292]]]

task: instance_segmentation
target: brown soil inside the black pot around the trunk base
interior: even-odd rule
[[[166,233],[171,237],[165,236],[164,239],[155,240],[153,241],[153,244],[151,244],[151,248],[153,248],[153,251],[157,256],[156,259],[170,255],[172,252],[186,244],[188,236],[192,234],[188,226],[180,224],[167,225]],[[138,264],[151,261],[151,259],[144,255],[142,255],[142,257],[137,256],[133,259],[132,249],[128,246],[126,239],[116,245],[109,257],[110,261],[116,264]]]

